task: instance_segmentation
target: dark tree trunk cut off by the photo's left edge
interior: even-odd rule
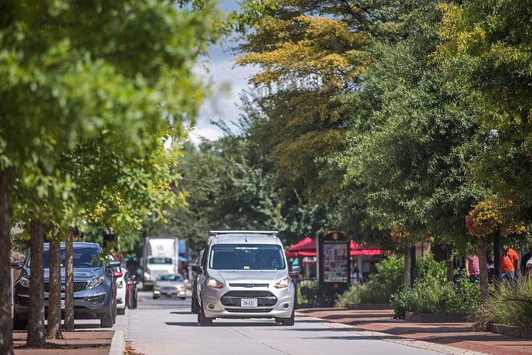
[[[11,319],[11,181],[0,169],[0,354],[13,355]]]

